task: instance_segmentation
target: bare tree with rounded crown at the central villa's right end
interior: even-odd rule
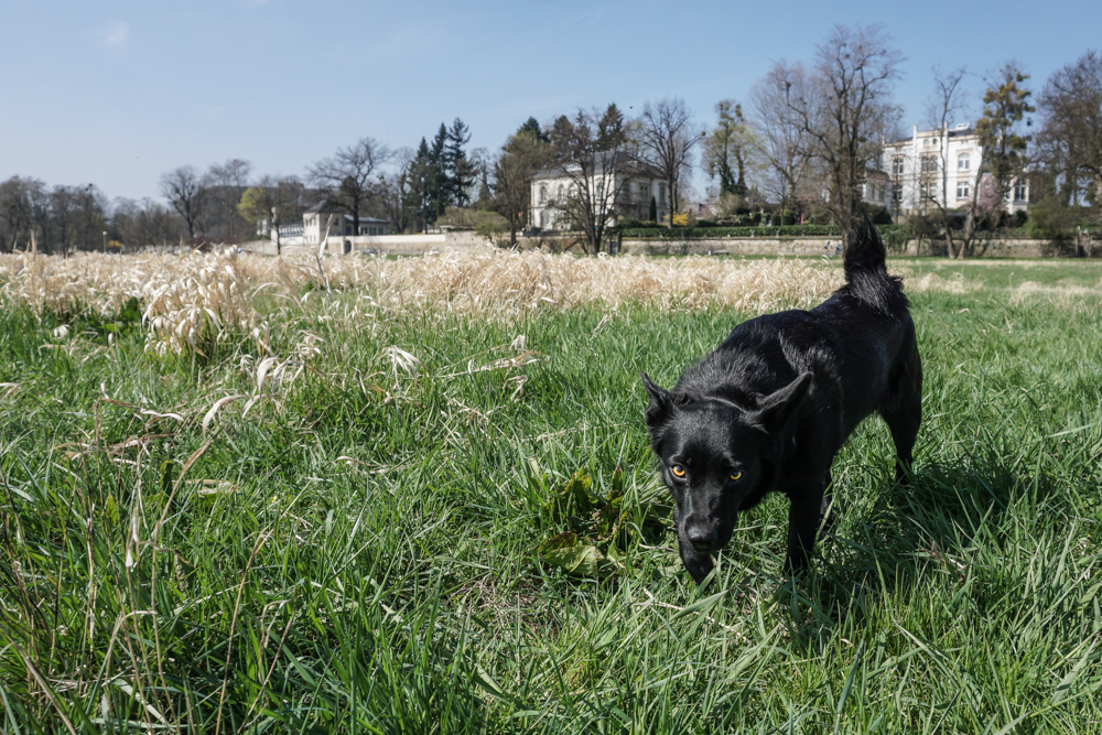
[[[642,106],[635,134],[640,156],[661,171],[669,187],[670,214],[679,212],[680,183],[692,174],[692,150],[701,138],[692,111],[680,97],[663,98],[655,105],[648,101]]]

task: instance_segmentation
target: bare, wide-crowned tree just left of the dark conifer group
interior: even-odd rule
[[[323,192],[326,203],[352,216],[357,235],[360,215],[378,195],[378,169],[390,155],[390,149],[374,138],[360,138],[309,169],[311,183]]]

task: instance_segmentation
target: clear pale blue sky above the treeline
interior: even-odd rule
[[[415,148],[462,118],[494,149],[542,121],[680,96],[711,123],[835,23],[879,23],[920,121],[936,64],[1016,58],[1039,91],[1102,46],[1102,3],[581,0],[0,0],[0,180],[158,196],[161,173],[231,158],[303,174],[358,138]]]

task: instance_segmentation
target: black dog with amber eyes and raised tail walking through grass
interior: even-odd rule
[[[681,561],[700,583],[726,545],[741,510],[768,493],[791,500],[786,573],[802,571],[830,501],[830,467],[874,411],[895,442],[906,482],[922,421],[922,365],[899,279],[867,221],[850,238],[846,283],[811,311],[744,322],[685,370],[656,386],[647,428],[677,501]]]

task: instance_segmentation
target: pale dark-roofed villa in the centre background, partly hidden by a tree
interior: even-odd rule
[[[561,171],[544,171],[531,181],[532,206],[528,214],[529,227],[550,230],[568,229],[568,203],[579,196],[577,177]],[[661,172],[649,164],[631,161],[617,171],[597,167],[590,177],[591,195],[598,202],[604,198],[608,212],[608,225],[615,225],[620,217],[657,219],[661,221],[670,214],[670,194]],[[655,204],[651,216],[651,201]],[[598,204],[595,209],[601,209]]]

